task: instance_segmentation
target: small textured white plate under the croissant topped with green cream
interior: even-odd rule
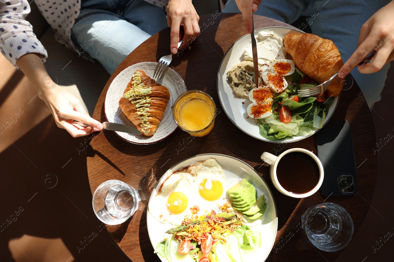
[[[156,65],[157,62],[139,62],[121,71],[119,75],[113,79],[107,90],[104,103],[105,117],[108,122],[134,126],[119,107],[119,99],[121,99],[127,84],[130,82],[130,79],[136,70],[143,70],[147,75],[152,77]],[[163,77],[163,82],[159,83],[168,88],[170,92],[170,100],[167,104],[167,108],[165,109],[163,119],[153,136],[134,135],[115,131],[118,136],[134,144],[153,144],[162,141],[177,130],[178,126],[173,119],[171,107],[173,106],[175,99],[177,99],[180,94],[186,92],[185,82],[175,70],[168,68]]]

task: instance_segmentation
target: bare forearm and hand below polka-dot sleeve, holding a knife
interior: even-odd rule
[[[22,55],[17,60],[17,66],[32,82],[39,98],[45,101],[60,128],[67,130],[73,137],[102,129],[102,124],[89,116],[78,98],[52,81],[37,54]],[[94,127],[73,125],[73,120]]]

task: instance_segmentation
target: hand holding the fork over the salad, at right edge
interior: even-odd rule
[[[394,60],[394,1],[391,1],[374,15],[371,16],[361,27],[357,49],[339,70],[338,76],[346,76],[359,62],[375,49],[376,55],[359,66],[360,73],[375,73]]]

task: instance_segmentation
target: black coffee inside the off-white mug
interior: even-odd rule
[[[316,161],[303,152],[284,155],[276,168],[279,184],[288,192],[305,194],[319,181],[319,167]]]

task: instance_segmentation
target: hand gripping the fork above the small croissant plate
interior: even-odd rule
[[[169,0],[167,5],[167,23],[171,27],[171,53],[178,52],[178,42],[182,37],[180,26],[183,26],[185,35],[183,44],[179,49],[188,46],[199,34],[200,27],[198,22],[200,17],[197,15],[191,0]]]

